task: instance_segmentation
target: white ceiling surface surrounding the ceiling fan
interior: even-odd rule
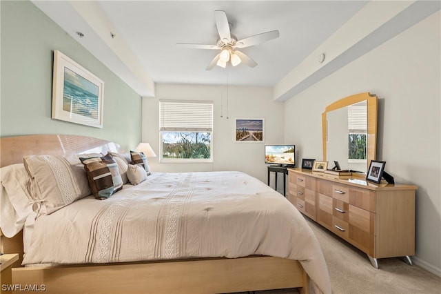
[[[149,83],[274,87],[369,1],[32,2],[136,88]],[[280,37],[242,49],[258,63],[255,68],[241,63],[205,70],[215,50],[176,43],[215,44],[214,10],[226,12],[238,39],[270,30],[279,30]]]

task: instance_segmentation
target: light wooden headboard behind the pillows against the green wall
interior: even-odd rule
[[[104,139],[78,135],[28,135],[0,138],[0,166],[19,164],[25,155],[70,155],[81,153],[103,153],[120,151],[119,144]],[[19,253],[19,260],[14,267],[21,266],[23,261],[23,232],[12,238],[3,236],[0,231],[1,253]]]

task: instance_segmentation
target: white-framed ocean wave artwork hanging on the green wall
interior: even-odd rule
[[[52,119],[103,128],[104,82],[54,50]]]

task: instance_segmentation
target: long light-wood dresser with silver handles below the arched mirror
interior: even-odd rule
[[[334,179],[288,169],[288,199],[300,213],[378,259],[415,254],[415,191],[404,184],[374,184],[364,178]]]

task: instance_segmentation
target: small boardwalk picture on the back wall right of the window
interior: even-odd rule
[[[263,143],[265,135],[264,119],[236,119],[236,142]]]

